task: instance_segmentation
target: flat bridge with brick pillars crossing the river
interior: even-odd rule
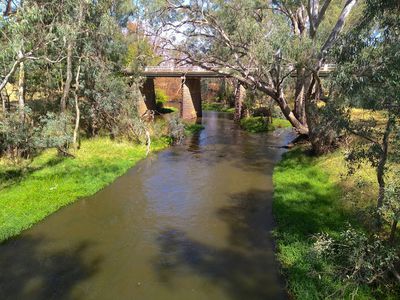
[[[335,70],[334,64],[325,64],[319,70],[321,77],[327,77],[331,72]],[[294,70],[294,66],[292,67]],[[129,74],[129,72],[127,72]],[[157,110],[156,105],[156,94],[154,88],[154,79],[158,77],[170,77],[170,78],[181,78],[182,86],[182,101],[180,108],[180,116],[183,119],[194,119],[201,117],[202,105],[201,105],[201,78],[224,78],[230,77],[226,74],[227,72],[214,72],[205,70],[200,67],[174,67],[174,66],[157,66],[147,67],[142,72],[142,75],[146,77],[146,80],[142,86],[141,92],[144,96],[144,103],[139,107],[139,113],[144,113],[147,110]],[[296,76],[296,72],[293,72],[292,77]],[[246,90],[239,86],[236,89],[235,103],[243,102]]]

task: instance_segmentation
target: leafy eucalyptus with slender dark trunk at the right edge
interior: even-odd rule
[[[349,161],[354,166],[355,161],[367,160],[376,169],[378,210],[388,208],[388,203],[397,207],[391,214],[392,236],[400,218],[400,185],[389,176],[398,170],[400,162],[399,14],[398,1],[367,1],[363,18],[337,48],[338,92],[332,103],[335,118],[344,117],[339,125],[363,141],[353,144]],[[367,107],[375,113],[359,122],[351,118],[349,111],[355,106]],[[387,179],[397,195],[392,193],[388,197]]]

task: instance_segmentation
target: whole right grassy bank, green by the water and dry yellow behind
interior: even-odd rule
[[[337,236],[351,222],[361,228],[360,212],[377,196],[374,171],[363,168],[351,178],[340,152],[311,157],[302,149],[286,153],[274,172],[274,216],[278,260],[295,299],[351,298],[332,266],[312,256],[312,236]],[[359,287],[355,299],[395,299],[387,291]]]

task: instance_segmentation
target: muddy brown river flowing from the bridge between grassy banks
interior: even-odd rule
[[[0,299],[284,299],[270,230],[284,136],[228,115],[0,246]]]

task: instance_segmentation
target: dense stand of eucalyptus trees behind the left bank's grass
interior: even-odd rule
[[[21,118],[19,125],[9,120],[3,123],[25,129],[34,124],[46,136],[60,133],[59,129],[64,128],[62,135],[67,136],[71,135],[69,123],[75,120],[70,139],[47,138],[51,142],[40,143],[41,147],[44,144],[54,147],[56,141],[62,142],[57,147],[64,154],[67,153],[65,146],[71,141],[78,142],[81,119],[88,134],[102,131],[114,136],[129,135],[135,127],[132,124],[139,120],[135,108],[141,97],[139,76],[132,80],[121,74],[128,54],[128,40],[122,26],[134,11],[132,2],[25,0],[13,3],[18,5],[12,7],[12,13],[0,17],[0,92],[20,82],[24,91],[36,93],[28,105],[33,108],[29,116],[35,120],[25,124]],[[18,94],[22,96],[23,90]],[[27,116],[24,102],[20,101],[21,116],[23,112]],[[37,110],[38,103],[42,102],[45,107]],[[6,118],[14,120],[11,114]],[[0,135],[9,136],[12,132],[1,131],[12,126],[2,126],[3,123]],[[25,129],[21,132],[31,135]]]

